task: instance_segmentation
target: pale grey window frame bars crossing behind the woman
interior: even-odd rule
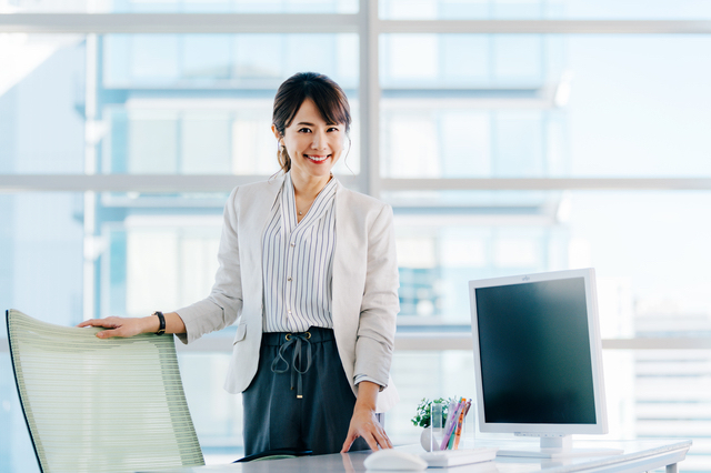
[[[492,34],[699,34],[711,36],[711,21],[611,21],[611,20],[383,20],[378,0],[360,0],[358,13],[304,14],[203,14],[203,13],[13,13],[0,14],[0,33],[87,34],[88,68],[96,68],[97,36],[109,33],[357,33],[359,37],[360,173],[344,177],[353,185],[379,198],[391,191],[711,191],[709,178],[530,178],[530,179],[392,179],[381,175],[381,95],[379,41],[388,33],[492,33]],[[89,69],[90,71],[90,69]],[[92,74],[89,72],[88,77]],[[94,74],[96,77],[96,74]],[[87,83],[86,147],[83,174],[0,174],[0,192],[82,192],[84,194],[84,246],[96,234],[93,210],[101,192],[229,192],[234,185],[261,179],[257,175],[100,174],[96,170],[96,84]],[[395,212],[398,209],[395,208]],[[93,318],[96,301],[94,262],[84,262],[83,316]],[[417,324],[417,321],[402,321]],[[607,339],[604,350],[711,350],[711,338]],[[182,352],[228,353],[229,338],[190,346]],[[470,351],[471,334],[465,325],[432,325],[427,331],[399,331],[395,349],[403,351]],[[8,351],[0,339],[0,352]]]

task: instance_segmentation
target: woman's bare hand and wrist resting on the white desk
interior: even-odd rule
[[[369,381],[358,384],[358,400],[341,453],[347,453],[359,436],[363,437],[370,450],[392,449],[390,439],[375,417],[375,399],[379,391],[380,386]]]

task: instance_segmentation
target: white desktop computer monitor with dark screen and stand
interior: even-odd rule
[[[594,270],[470,281],[469,290],[479,427],[541,439],[540,449],[500,455],[574,454],[570,435],[607,433]]]

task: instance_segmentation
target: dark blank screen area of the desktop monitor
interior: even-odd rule
[[[484,419],[594,424],[583,278],[475,289]]]

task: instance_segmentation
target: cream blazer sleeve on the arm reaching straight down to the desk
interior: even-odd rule
[[[400,311],[392,208],[383,205],[368,231],[365,285],[356,341],[357,380],[388,385]]]

